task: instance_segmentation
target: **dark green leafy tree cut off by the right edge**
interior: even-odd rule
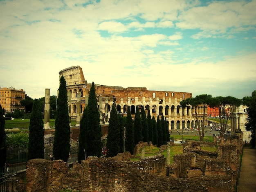
[[[255,148],[256,143],[256,90],[252,92],[252,96],[246,96],[243,98],[243,105],[247,106],[247,123],[245,129],[252,132],[251,145]]]

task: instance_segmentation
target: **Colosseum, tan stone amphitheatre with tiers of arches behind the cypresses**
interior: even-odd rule
[[[73,66],[63,69],[59,72],[59,78],[64,76],[67,82],[67,97],[69,116],[76,119],[79,125],[83,110],[88,103],[89,91],[92,83],[87,83],[83,76],[83,70],[80,66]],[[169,130],[188,129],[197,126],[195,118],[195,109],[191,106],[182,108],[180,101],[191,98],[192,93],[170,92],[170,91],[150,91],[146,87],[117,87],[108,85],[99,85],[94,82],[95,91],[100,112],[101,125],[108,125],[112,104],[115,103],[117,112],[126,116],[128,106],[131,114],[135,116],[136,106],[145,107],[146,114],[150,110],[151,116],[166,118]],[[199,107],[198,121],[202,125],[203,109]],[[206,113],[207,114],[207,113]],[[205,118],[207,121],[207,118]],[[181,123],[182,122],[182,123]],[[206,124],[207,125],[207,124]]]

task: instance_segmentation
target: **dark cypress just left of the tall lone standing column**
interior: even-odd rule
[[[41,114],[40,101],[34,100],[31,118],[29,123],[29,145],[27,159],[44,159],[45,143],[44,143],[43,118]]]

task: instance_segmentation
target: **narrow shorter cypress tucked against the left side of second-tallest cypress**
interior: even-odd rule
[[[88,119],[88,108],[85,107],[83,110],[83,116],[80,121],[80,134],[79,134],[79,147],[78,147],[78,163],[81,163],[82,160],[86,159],[87,155],[87,141],[88,141],[88,124],[87,124],[87,119]]]

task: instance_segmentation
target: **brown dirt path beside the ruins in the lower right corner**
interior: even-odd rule
[[[256,191],[256,149],[244,147],[237,192]]]

